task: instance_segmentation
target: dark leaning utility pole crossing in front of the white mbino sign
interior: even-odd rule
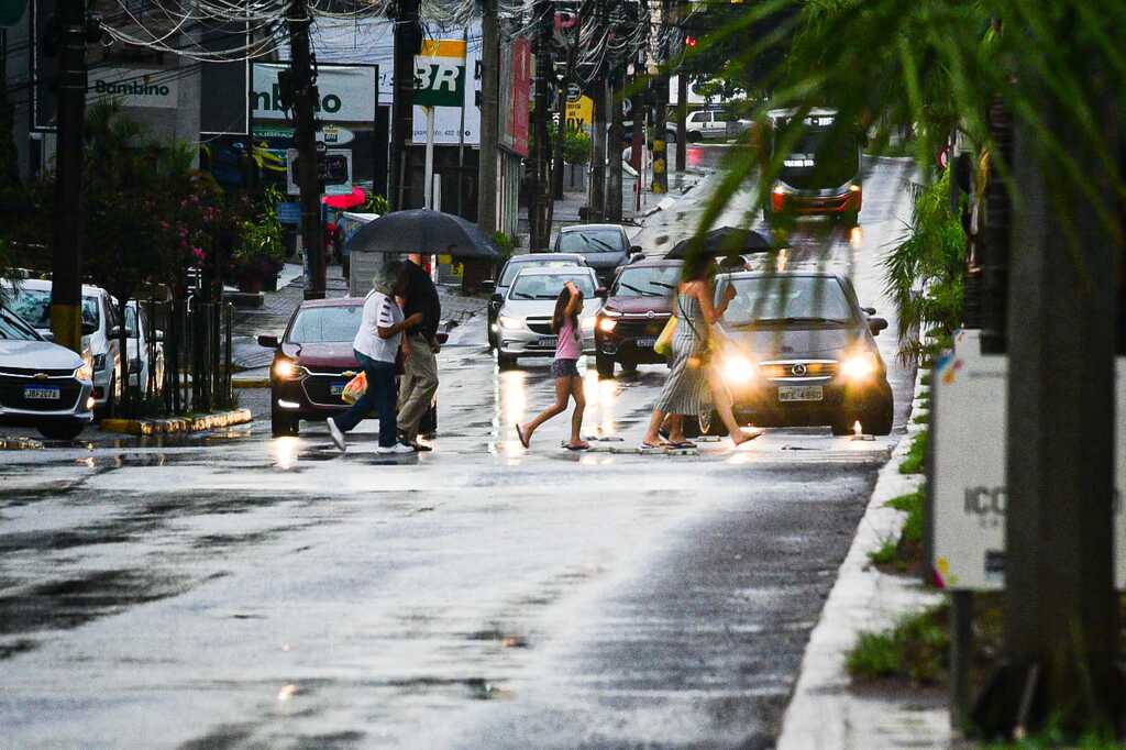
[[[297,188],[301,190],[301,240],[305,248],[309,279],[306,300],[324,298],[324,231],[321,226],[321,181],[318,172],[316,73],[309,48],[313,18],[304,0],[289,6],[289,84],[293,93],[294,146],[297,149]]]

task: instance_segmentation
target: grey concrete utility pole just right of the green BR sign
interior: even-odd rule
[[[497,158],[500,134],[500,19],[498,0],[482,0],[481,151],[477,160],[477,226],[497,231]],[[464,132],[464,127],[462,131]]]

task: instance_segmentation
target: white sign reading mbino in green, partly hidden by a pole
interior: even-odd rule
[[[250,91],[254,119],[286,119],[278,89],[278,71],[288,65],[254,63]],[[364,65],[321,65],[316,73],[320,93],[316,117],[333,123],[375,122],[376,69]]]

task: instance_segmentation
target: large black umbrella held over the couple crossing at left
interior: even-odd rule
[[[428,208],[379,216],[352,235],[350,248],[352,252],[422,252],[489,260],[502,257],[497,243],[476,224]]]

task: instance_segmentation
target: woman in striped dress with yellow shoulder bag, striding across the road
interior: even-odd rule
[[[711,259],[700,255],[685,262],[682,280],[677,287],[672,305],[677,325],[672,336],[672,369],[653,409],[649,430],[641,443],[642,450],[661,446],[659,430],[669,419],[671,448],[691,448],[695,444],[685,438],[683,417],[699,417],[713,407],[731,432],[734,444],[751,439],[739,427],[731,408],[731,394],[709,361],[709,338],[715,324],[731,303],[724,295],[720,306],[712,303]]]

